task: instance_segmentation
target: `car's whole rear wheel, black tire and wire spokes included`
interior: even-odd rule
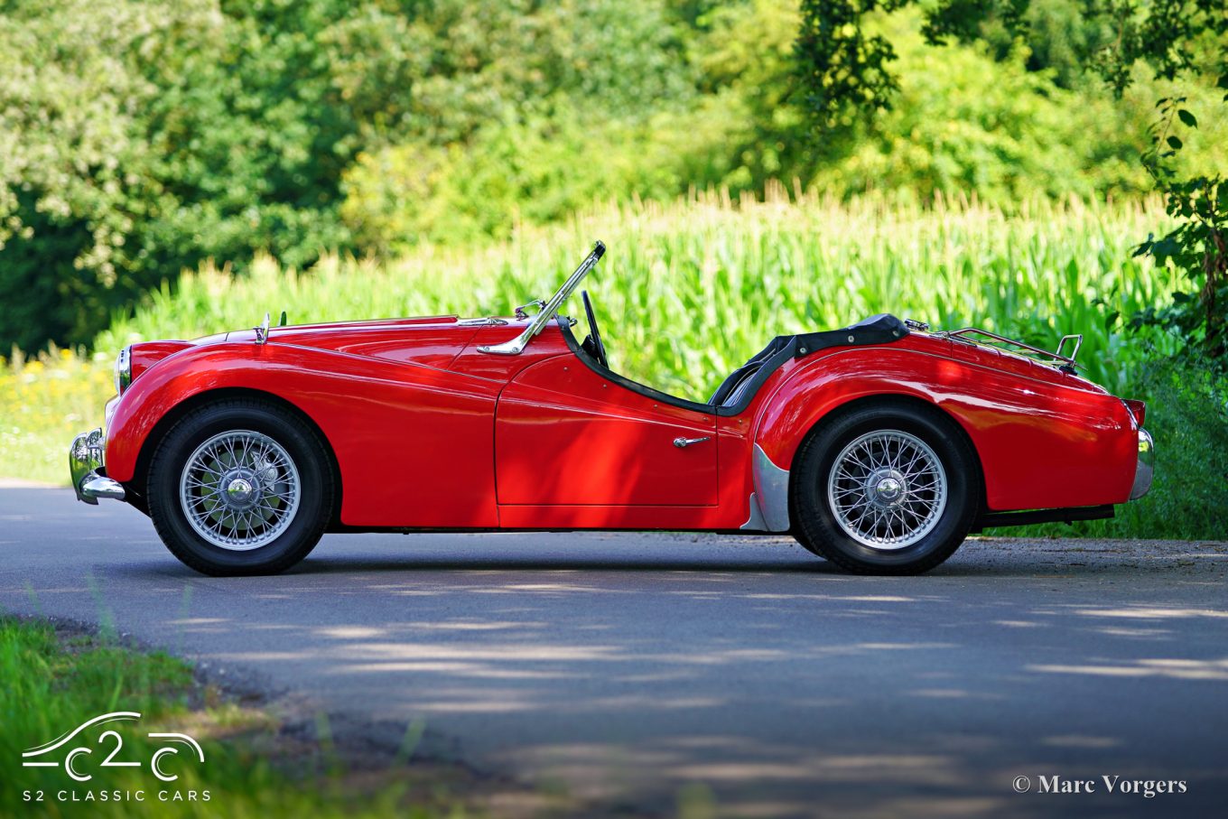
[[[949,419],[884,400],[810,435],[791,495],[797,538],[810,551],[851,572],[915,575],[968,537],[981,480]]]

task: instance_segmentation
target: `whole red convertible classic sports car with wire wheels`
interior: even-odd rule
[[[604,252],[508,318],[134,344],[106,431],[72,443],[77,497],[131,503],[210,575],[282,571],[325,532],[445,529],[790,533],[900,575],[1151,485],[1144,406],[1076,375],[1081,336],[874,316],[779,335],[700,403],[610,370],[587,292],[583,341],[559,314]]]

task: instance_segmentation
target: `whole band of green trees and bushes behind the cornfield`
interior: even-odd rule
[[[87,344],[210,259],[308,269],[507,237],[594,201],[781,179],[1011,210],[1149,185],[1135,161],[1149,101],[1076,76],[1105,45],[1100,11],[884,14],[904,5],[0,0],[0,350]],[[887,45],[898,82],[885,52],[874,63]],[[899,104],[867,120],[842,93]],[[1179,168],[1228,161],[1228,124],[1203,119]]]

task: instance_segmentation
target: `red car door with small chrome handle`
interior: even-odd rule
[[[620,381],[565,354],[503,388],[500,506],[716,505],[716,416]]]

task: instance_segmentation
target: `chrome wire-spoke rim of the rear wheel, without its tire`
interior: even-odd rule
[[[871,549],[905,549],[933,532],[947,507],[947,473],[925,441],[876,430],[850,441],[828,473],[836,524]]]

